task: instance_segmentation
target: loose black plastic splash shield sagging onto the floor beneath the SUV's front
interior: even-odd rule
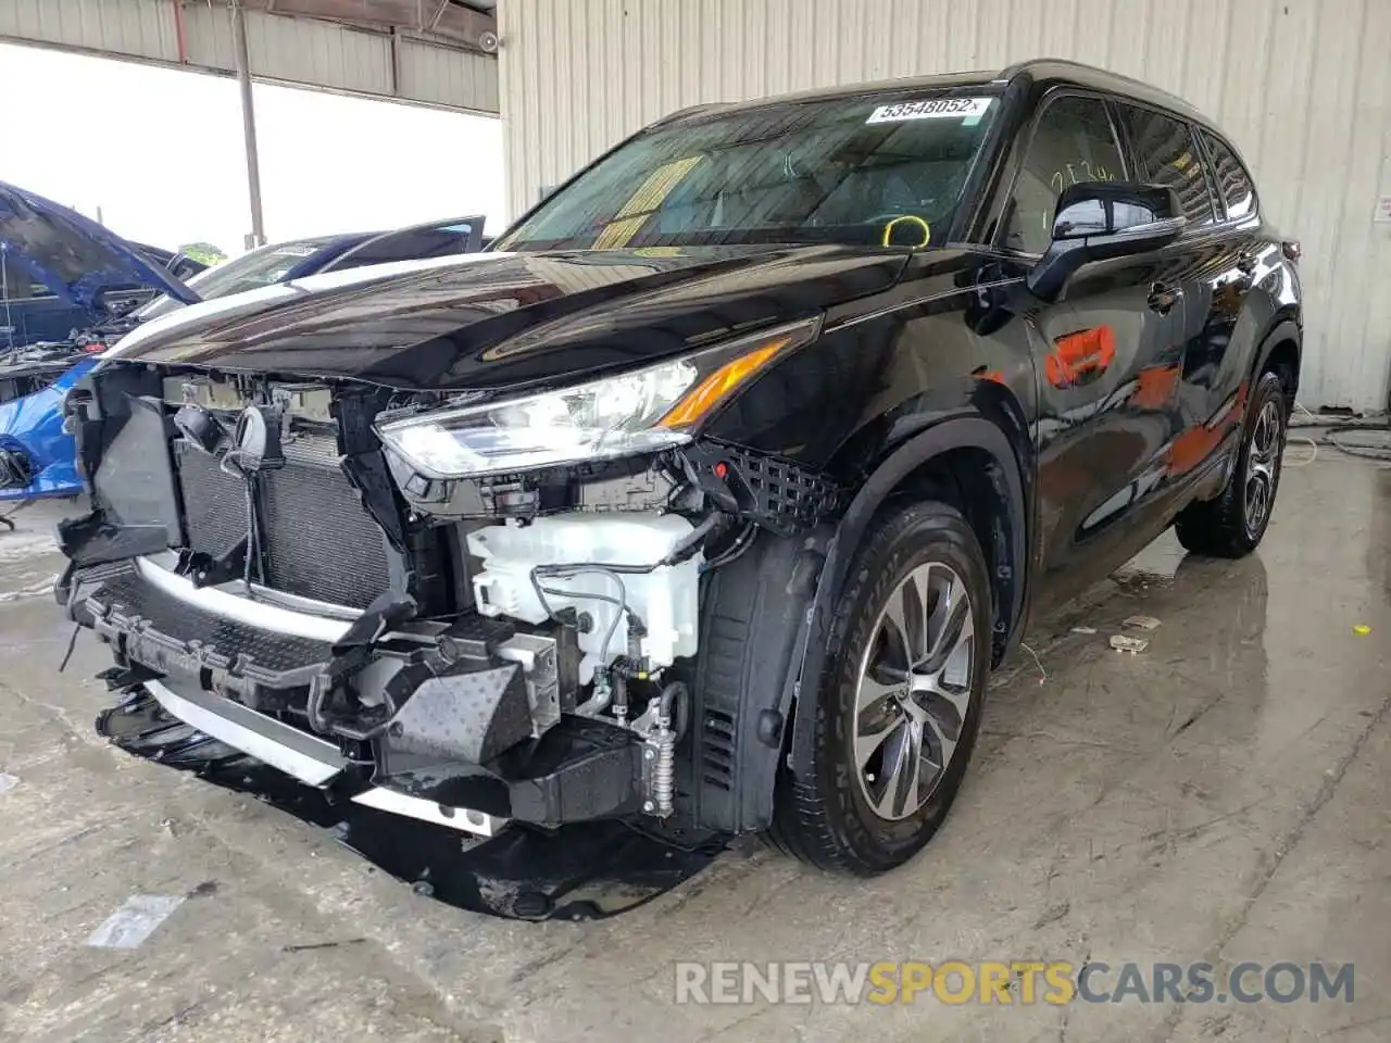
[[[555,830],[513,826],[491,840],[465,840],[445,826],[351,802],[355,787],[367,787],[353,768],[327,790],[298,783],[170,716],[140,688],[103,711],[96,730],[128,754],[195,772],[330,830],[419,894],[494,916],[612,916],[689,880],[725,846],[723,837],[677,846],[612,819]]]

